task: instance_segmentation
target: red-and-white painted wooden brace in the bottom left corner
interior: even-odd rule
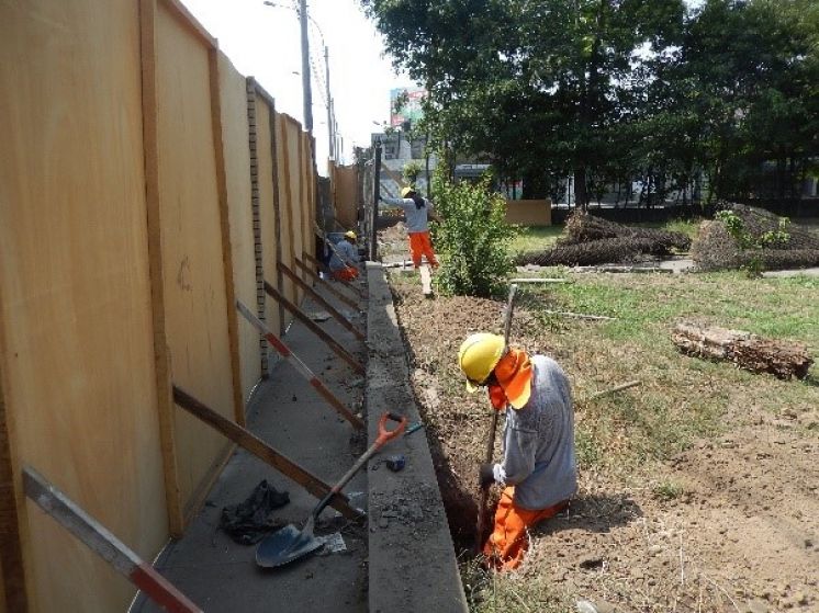
[[[202,613],[199,606],[188,600],[153,566],[143,561],[122,541],[33,468],[23,468],[23,489],[43,511],[166,611]],[[93,586],[89,586],[89,589],[93,589]]]

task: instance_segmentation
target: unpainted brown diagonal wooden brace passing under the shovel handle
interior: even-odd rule
[[[173,401],[189,413],[204,421],[207,425],[220,431],[237,445],[279,470],[285,477],[294,480],[316,498],[324,498],[330,491],[332,486],[325,484],[292,459],[280,454],[246,428],[222,417],[176,385],[173,386]],[[347,519],[356,520],[363,516],[361,511],[350,507],[347,497],[340,492],[333,498],[330,506]]]

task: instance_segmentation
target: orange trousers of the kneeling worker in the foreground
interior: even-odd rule
[[[495,529],[483,545],[483,555],[490,567],[496,570],[512,570],[520,566],[529,548],[529,527],[553,518],[569,506],[569,501],[553,507],[530,511],[515,504],[515,488],[506,487],[495,511]]]

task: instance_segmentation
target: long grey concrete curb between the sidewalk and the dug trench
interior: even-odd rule
[[[367,421],[370,444],[384,411],[419,420],[392,294],[380,264],[367,263]],[[420,287],[418,287],[420,291]],[[392,473],[379,461],[403,454]],[[455,547],[423,431],[389,443],[369,463],[369,610],[372,613],[467,611]]]

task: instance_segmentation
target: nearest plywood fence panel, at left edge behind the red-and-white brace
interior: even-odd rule
[[[0,5],[0,360],[18,466],[152,559],[168,525],[139,49],[136,2]],[[127,608],[131,583],[22,509],[32,610]]]

